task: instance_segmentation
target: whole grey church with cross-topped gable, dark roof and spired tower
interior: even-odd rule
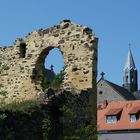
[[[104,73],[97,83],[97,103],[104,101],[128,101],[140,99],[138,90],[138,74],[132,52],[129,48],[125,67],[123,69],[123,84],[119,86],[105,79]]]

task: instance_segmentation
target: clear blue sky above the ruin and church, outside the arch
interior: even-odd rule
[[[99,38],[98,74],[104,71],[106,79],[121,85],[129,42],[140,71],[139,7],[140,0],[1,0],[0,46],[70,19],[93,29]]]

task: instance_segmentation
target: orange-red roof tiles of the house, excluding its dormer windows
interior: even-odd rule
[[[99,104],[101,106],[101,103]],[[116,123],[107,123],[106,115],[117,115],[118,110],[110,111],[112,109],[121,109],[122,112]],[[140,110],[140,100],[133,101],[112,101],[109,102],[105,108],[97,110],[97,125],[98,130],[134,130],[140,129],[140,118],[136,122],[130,121],[130,113],[137,113]]]

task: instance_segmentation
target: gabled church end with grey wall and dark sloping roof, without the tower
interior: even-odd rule
[[[101,78],[97,83],[97,103],[136,100],[127,89]]]

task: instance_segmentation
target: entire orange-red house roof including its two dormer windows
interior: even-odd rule
[[[100,103],[97,116],[98,130],[140,130],[140,100]]]

